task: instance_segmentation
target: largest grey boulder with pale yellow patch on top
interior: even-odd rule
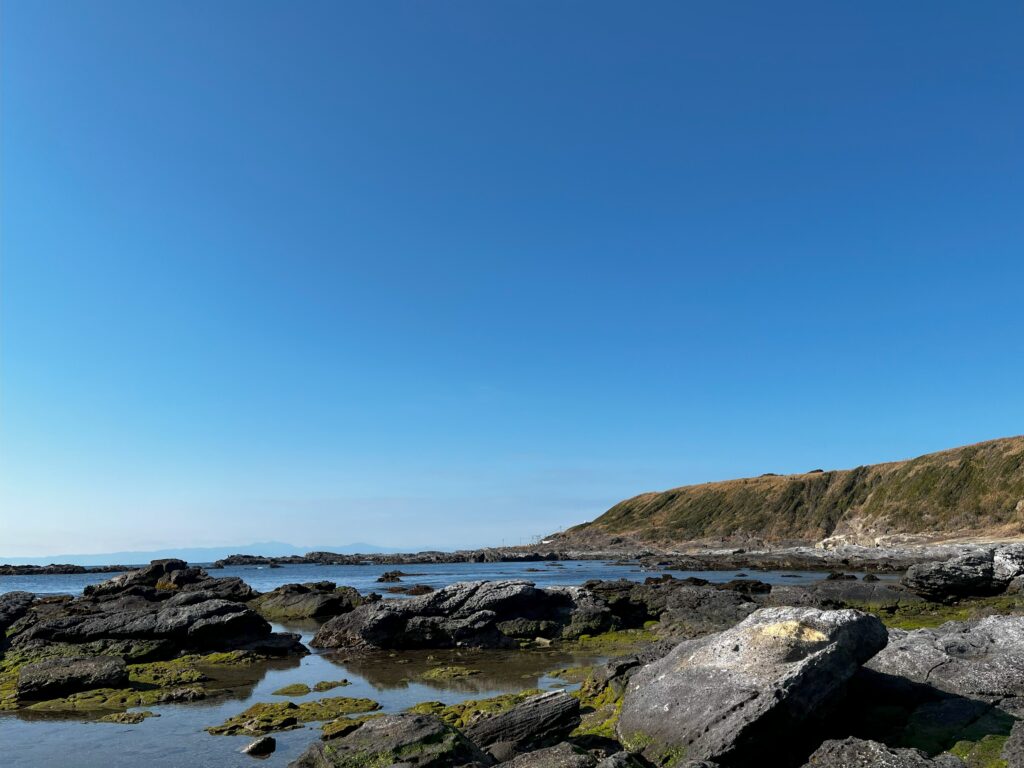
[[[635,673],[620,738],[655,763],[685,754],[762,765],[766,742],[798,751],[807,721],[827,713],[886,641],[883,624],[860,611],[763,608]]]

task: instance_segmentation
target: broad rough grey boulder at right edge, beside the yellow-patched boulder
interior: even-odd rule
[[[1024,616],[949,622],[912,632],[891,630],[888,647],[867,667],[963,696],[1021,698]]]

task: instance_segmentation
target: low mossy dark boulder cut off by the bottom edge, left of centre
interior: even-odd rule
[[[386,715],[331,741],[309,746],[289,768],[416,768],[488,766],[490,758],[462,733],[430,715]]]

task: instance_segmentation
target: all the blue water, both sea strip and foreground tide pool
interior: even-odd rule
[[[455,563],[431,565],[285,565],[280,568],[240,566],[211,570],[216,577],[241,577],[266,592],[294,582],[333,581],[360,592],[380,591],[377,578],[385,570],[410,573],[402,582],[442,587],[473,580],[527,579],[538,586],[579,585],[590,579],[625,578],[642,581],[665,570],[601,561],[548,563]],[[677,578],[697,575],[722,583],[746,572],[773,584],[800,584],[821,579],[823,572],[792,571],[672,571]],[[39,594],[80,594],[88,584],[112,574],[0,577],[0,592],[26,590]],[[281,631],[299,632],[308,645],[314,625],[275,625]],[[326,696],[366,697],[378,701],[383,712],[400,712],[420,701],[454,703],[526,688],[566,687],[548,673],[570,666],[593,664],[600,657],[542,649],[535,651],[414,651],[349,656],[339,652],[313,652],[301,659],[254,666],[244,679],[225,680],[224,695],[186,705],[148,708],[160,715],[138,725],[97,723],[85,717],[41,716],[36,713],[0,713],[0,766],[4,768],[232,768],[252,766],[254,758],[241,753],[248,736],[213,736],[204,728],[218,725],[258,701],[281,701],[273,691],[292,683],[310,687],[323,680],[346,678],[351,685],[326,693],[294,697],[302,701]],[[437,664],[461,664],[480,670],[468,678],[425,682],[424,671]],[[286,766],[319,736],[319,724],[272,734],[278,751],[261,761]]]

